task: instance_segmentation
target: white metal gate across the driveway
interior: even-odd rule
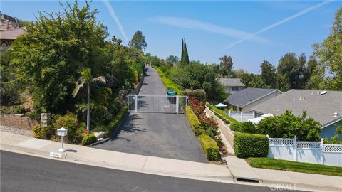
[[[128,95],[130,112],[184,113],[187,97],[180,95]]]

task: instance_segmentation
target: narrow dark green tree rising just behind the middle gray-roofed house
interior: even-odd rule
[[[267,60],[264,60],[261,63],[260,68],[261,80],[267,85],[267,87],[274,88],[276,86],[276,68]]]

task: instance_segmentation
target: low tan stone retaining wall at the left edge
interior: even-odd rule
[[[23,117],[23,114],[0,114],[0,125],[3,126],[31,130],[37,124],[38,121]]]

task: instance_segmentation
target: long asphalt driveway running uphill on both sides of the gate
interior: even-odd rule
[[[154,68],[147,68],[140,95],[165,95],[165,86]],[[118,135],[94,146],[131,154],[207,162],[199,140],[185,114],[134,113],[124,120]]]

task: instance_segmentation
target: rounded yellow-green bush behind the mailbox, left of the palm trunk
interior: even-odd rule
[[[57,114],[53,117],[53,128],[59,129],[64,127],[68,129],[66,141],[71,144],[78,144],[82,141],[82,133],[86,127],[78,123],[76,114],[68,112],[66,115]]]

